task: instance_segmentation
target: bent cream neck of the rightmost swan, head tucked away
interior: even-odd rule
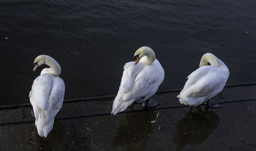
[[[220,59],[211,53],[206,53],[202,56],[199,67],[208,65],[208,63],[213,66],[227,68],[227,66]]]

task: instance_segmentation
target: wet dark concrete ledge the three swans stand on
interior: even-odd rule
[[[115,96],[65,100],[47,138],[38,136],[30,104],[0,107],[1,150],[256,150],[256,83],[227,85],[221,108],[191,110],[161,91],[159,106],[134,104],[111,115]]]

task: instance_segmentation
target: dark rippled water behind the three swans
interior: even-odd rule
[[[159,90],[182,88],[210,52],[227,83],[255,82],[256,1],[1,1],[1,103],[29,103],[36,56],[61,66],[65,98],[115,95],[123,65],[150,46],[165,70]],[[5,37],[8,37],[6,40]]]

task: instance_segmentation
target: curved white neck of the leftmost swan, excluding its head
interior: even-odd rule
[[[50,68],[43,69],[41,71],[41,74],[49,73],[49,74],[53,74],[55,76],[59,76],[59,74],[61,72],[61,68],[57,61],[55,61],[52,57],[47,56],[45,59],[45,64],[50,66]]]

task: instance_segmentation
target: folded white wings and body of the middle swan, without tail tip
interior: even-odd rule
[[[119,94],[123,94],[124,102],[144,97],[159,87],[164,78],[164,71],[160,63],[157,60],[155,62],[152,65],[138,63],[138,66],[133,62],[125,66],[119,87]]]

